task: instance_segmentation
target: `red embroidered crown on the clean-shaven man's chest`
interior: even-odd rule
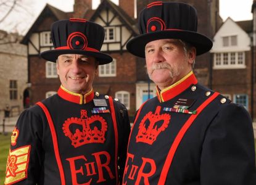
[[[99,115],[88,118],[87,111],[81,110],[81,118],[68,118],[62,129],[76,148],[93,142],[104,143],[107,122]]]

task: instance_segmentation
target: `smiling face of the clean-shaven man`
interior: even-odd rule
[[[98,66],[94,57],[79,54],[59,55],[56,65],[60,82],[68,91],[85,94],[93,87]]]

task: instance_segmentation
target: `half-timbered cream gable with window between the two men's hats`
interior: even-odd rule
[[[101,2],[91,21],[105,28],[105,41],[101,51],[126,51],[126,43],[138,35],[133,20],[109,0]]]

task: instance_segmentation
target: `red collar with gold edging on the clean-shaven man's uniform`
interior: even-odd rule
[[[76,104],[86,104],[93,100],[94,92],[92,88],[91,91],[89,91],[86,94],[77,94],[77,93],[68,91],[61,85],[58,90],[58,95],[63,99],[65,99],[66,101],[70,101]]]

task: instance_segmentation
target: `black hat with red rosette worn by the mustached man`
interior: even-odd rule
[[[180,2],[152,2],[139,15],[141,35],[131,39],[126,48],[131,54],[145,57],[147,43],[157,39],[181,39],[196,47],[197,55],[212,48],[207,36],[197,33],[197,11]]]

